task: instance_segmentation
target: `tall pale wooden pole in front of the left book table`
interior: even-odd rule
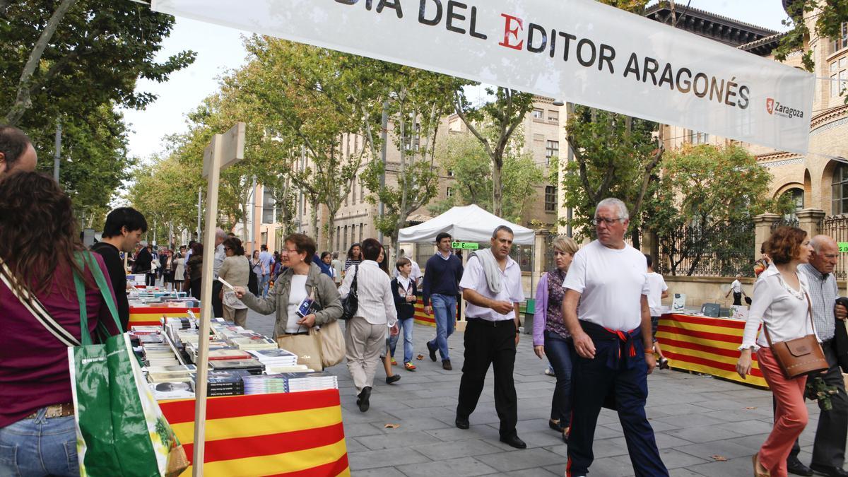
[[[215,225],[218,223],[218,186],[220,182],[221,147],[223,137],[215,134],[211,144],[209,158],[209,185],[206,193],[206,227],[204,230],[204,272],[200,294],[200,326],[198,327],[198,360],[194,364],[198,368],[194,386],[194,457],[192,458],[192,475],[201,477],[204,474],[204,450],[206,441],[206,379],[209,375],[209,328],[212,323],[212,282],[215,265]]]

